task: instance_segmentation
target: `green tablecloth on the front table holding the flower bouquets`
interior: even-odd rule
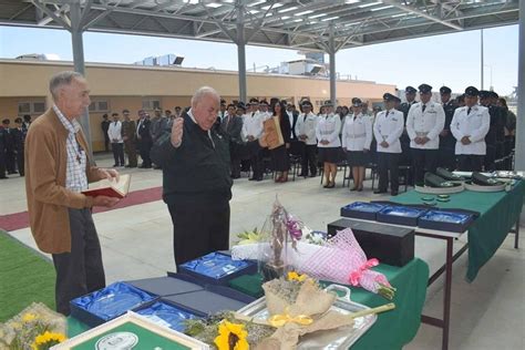
[[[423,309],[429,281],[429,266],[421,259],[414,259],[401,268],[380,265],[374,269],[384,274],[392,286],[398,288],[393,300],[397,308],[379,315],[375,323],[352,346],[352,350],[401,349],[415,337],[420,327],[421,310]],[[351,299],[356,302],[369,307],[388,302],[387,299],[364,289],[353,287],[351,289]],[[74,337],[87,329],[89,327],[79,320],[68,318],[69,337]]]

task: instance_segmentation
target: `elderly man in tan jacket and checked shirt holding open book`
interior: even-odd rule
[[[25,138],[25,193],[34,240],[53,257],[56,310],[68,316],[71,299],[105,286],[91,208],[119,202],[82,191],[90,182],[119,174],[94,166],[89,155],[76,121],[91,103],[82,74],[60,72],[49,87],[54,105],[31,124]]]

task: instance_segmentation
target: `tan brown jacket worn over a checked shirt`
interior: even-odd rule
[[[93,198],[65,188],[68,131],[53,109],[29,127],[25,138],[25,195],[31,231],[40,250],[50,254],[71,251],[68,208],[90,208]],[[87,150],[84,134],[78,141]],[[99,181],[99,172],[87,156],[87,182]]]

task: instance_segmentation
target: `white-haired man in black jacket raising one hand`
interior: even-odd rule
[[[192,109],[152,148],[153,162],[163,169],[163,199],[173,220],[177,265],[228,249],[230,152],[247,158],[265,146],[264,136],[240,143],[213,128],[219,105],[214,89],[198,89]]]

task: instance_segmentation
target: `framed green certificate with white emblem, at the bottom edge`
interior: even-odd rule
[[[53,350],[207,350],[209,346],[169,328],[157,326],[146,318],[127,312],[112,321],[93,328]]]

